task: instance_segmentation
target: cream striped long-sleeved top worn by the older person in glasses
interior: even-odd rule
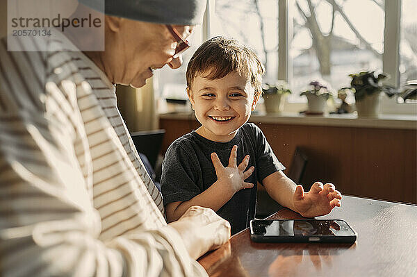
[[[165,223],[114,86],[65,37],[31,43],[49,51],[0,41],[0,275],[205,276]]]

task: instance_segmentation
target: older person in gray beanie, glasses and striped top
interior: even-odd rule
[[[75,15],[99,1],[80,2]],[[195,259],[230,226],[201,207],[166,224],[114,85],[179,67],[205,2],[106,0],[104,51],[81,51],[82,32],[15,37],[47,51],[1,40],[1,276],[206,276]]]

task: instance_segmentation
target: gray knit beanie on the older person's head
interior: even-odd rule
[[[159,24],[201,24],[206,0],[79,0],[85,6],[116,17]]]

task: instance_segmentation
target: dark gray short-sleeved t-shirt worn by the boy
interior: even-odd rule
[[[217,153],[222,165],[227,167],[234,145],[238,146],[237,165],[250,155],[247,169],[253,165],[255,170],[245,181],[253,183],[254,187],[236,192],[217,213],[230,222],[232,234],[247,228],[255,215],[256,181],[261,183],[266,176],[285,169],[261,129],[252,123],[244,124],[230,142],[213,142],[195,131],[172,142],[163,161],[161,190],[164,204],[188,201],[213,185],[217,176],[211,153]]]

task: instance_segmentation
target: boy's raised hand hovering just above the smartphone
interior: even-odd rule
[[[294,193],[294,207],[303,217],[319,217],[327,215],[336,206],[341,206],[342,194],[334,185],[320,182],[313,183],[309,192],[304,193],[301,185],[297,185]]]

